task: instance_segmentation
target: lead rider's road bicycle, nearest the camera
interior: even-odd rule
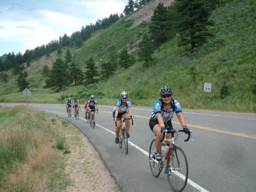
[[[188,180],[188,161],[186,159],[186,155],[182,148],[175,145],[175,140],[178,139],[178,133],[185,132],[184,130],[178,129],[166,129],[163,134],[161,147],[161,156],[162,159],[157,161],[154,157],[156,153],[155,148],[155,139],[152,140],[150,144],[150,153],[149,153],[149,161],[150,161],[150,170],[154,177],[158,177],[162,172],[162,169],[165,169],[165,174],[167,174],[167,179],[171,189],[173,191],[183,191],[186,187],[186,182]],[[167,133],[171,133],[171,139],[167,139]],[[174,133],[176,136],[174,137]],[[190,138],[192,131],[185,132],[188,133],[188,138],[184,140],[187,142]],[[191,135],[192,136],[192,135]],[[191,138],[192,140],[192,138]],[[171,144],[165,144],[165,142],[171,142]]]

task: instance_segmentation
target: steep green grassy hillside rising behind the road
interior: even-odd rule
[[[137,59],[137,42],[147,31],[152,7],[147,5],[134,14],[122,18],[111,27],[97,31],[81,48],[70,49],[73,61],[79,63],[85,71],[85,61],[93,57],[100,70],[100,64],[108,61],[108,48],[114,45],[117,53],[124,47],[132,51]],[[170,3],[171,1],[162,1]],[[157,4],[156,4],[157,5]],[[100,103],[113,104],[121,91],[128,91],[134,105],[152,106],[158,98],[161,86],[173,88],[173,97],[180,101],[182,108],[225,110],[233,112],[256,111],[255,94],[252,89],[256,78],[256,21],[255,1],[233,1],[212,13],[215,22],[210,30],[216,34],[194,54],[186,48],[177,47],[178,37],[158,48],[150,67],[142,62],[135,63],[127,70],[118,68],[109,80],[98,84],[70,86],[60,93],[51,89],[42,89],[46,77],[42,76],[42,66],[51,68],[57,53],[49,59],[33,61],[27,68],[31,95],[30,102],[63,103],[56,98],[77,96],[83,101],[90,94],[96,95]],[[64,54],[61,55],[64,58]],[[15,77],[14,77],[15,78]],[[212,92],[205,93],[205,82],[212,83]],[[24,101],[24,96],[17,93],[15,80],[0,82],[0,101]],[[227,97],[221,97],[221,91],[227,91]]]

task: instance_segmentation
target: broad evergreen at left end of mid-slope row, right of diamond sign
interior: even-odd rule
[[[56,89],[56,91],[60,91],[65,86],[68,86],[68,65],[62,59],[56,59],[45,82],[46,86],[44,88],[48,87]]]

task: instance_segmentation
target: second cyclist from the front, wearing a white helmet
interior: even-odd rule
[[[115,103],[115,108],[113,109],[113,118],[114,121],[116,121],[117,118],[133,118],[132,116],[132,104],[130,103],[130,100],[128,99],[128,93],[126,91],[123,91],[120,93],[120,99],[118,99]],[[121,129],[121,121],[117,121],[117,126],[115,127],[115,143],[119,143],[118,134]],[[127,131],[127,137],[130,138],[129,134],[130,130],[130,120],[126,120],[126,131]]]

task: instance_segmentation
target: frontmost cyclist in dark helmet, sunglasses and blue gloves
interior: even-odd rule
[[[171,124],[171,118],[173,118],[174,112],[176,113],[177,118],[182,124],[182,128],[184,131],[190,131],[188,127],[186,127],[185,118],[182,113],[182,107],[180,103],[171,97],[173,91],[169,86],[163,86],[160,91],[160,99],[157,99],[154,103],[153,111],[150,116],[150,129],[156,135],[155,147],[156,153],[155,157],[157,161],[161,160],[161,145],[162,142],[160,140],[163,136],[163,131],[170,127],[173,129],[173,125]],[[167,138],[171,139],[171,134],[167,134]],[[166,142],[167,144],[170,142]]]

